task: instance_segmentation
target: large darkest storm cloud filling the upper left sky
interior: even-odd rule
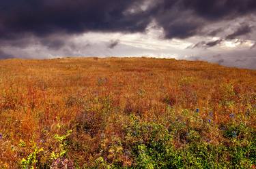
[[[45,36],[51,33],[85,31],[143,31],[145,14],[125,16],[124,12],[141,0],[3,0],[0,3],[1,37],[22,33]]]

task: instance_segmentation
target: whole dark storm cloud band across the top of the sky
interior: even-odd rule
[[[143,32],[156,20],[164,29],[165,37],[184,39],[200,34],[208,22],[231,20],[256,9],[255,0],[159,0],[142,10],[140,6],[145,1],[2,0],[0,35],[10,39],[24,33],[42,37],[87,31]],[[210,35],[219,31],[221,29]],[[248,30],[241,30],[237,35],[242,31]]]

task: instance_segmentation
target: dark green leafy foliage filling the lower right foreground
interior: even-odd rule
[[[185,125],[176,127],[168,130],[161,124],[142,122],[132,116],[122,142],[134,159],[129,168],[251,168],[256,162],[255,130],[244,124],[227,125],[223,130],[227,140],[219,144],[202,140],[197,130],[188,131]],[[186,142],[175,148],[173,134],[181,130],[186,132]],[[102,160],[101,165],[106,163]],[[109,168],[122,168],[122,165]]]

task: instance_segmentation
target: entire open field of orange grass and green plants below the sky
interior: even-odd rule
[[[0,60],[0,168],[256,168],[256,71]]]

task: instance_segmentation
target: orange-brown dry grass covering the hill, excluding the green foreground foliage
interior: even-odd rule
[[[175,118],[190,121],[196,109],[203,120],[212,112],[216,126],[232,120],[255,128],[255,114],[247,115],[256,109],[256,71],[155,58],[1,60],[0,168],[18,168],[35,146],[44,149],[40,160],[51,164],[49,154],[61,151],[55,134],[67,130],[67,156],[76,166],[100,156],[130,166],[132,157],[118,152],[124,147],[115,153],[109,147],[124,140],[131,115],[169,128]],[[182,116],[184,110],[189,115]],[[201,137],[225,142],[215,127]],[[174,138],[173,144],[186,143]]]

